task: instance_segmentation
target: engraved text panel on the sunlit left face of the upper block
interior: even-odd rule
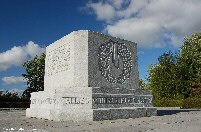
[[[46,74],[51,76],[69,70],[70,45],[62,45],[47,53]]]

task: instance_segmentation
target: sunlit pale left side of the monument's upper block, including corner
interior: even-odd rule
[[[88,31],[72,32],[46,48],[45,91],[88,87]]]

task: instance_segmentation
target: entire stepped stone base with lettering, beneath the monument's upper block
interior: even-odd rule
[[[121,94],[118,94],[118,90]],[[34,92],[27,117],[53,121],[100,121],[156,115],[150,90],[73,87]]]

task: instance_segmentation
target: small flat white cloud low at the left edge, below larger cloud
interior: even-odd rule
[[[22,82],[26,82],[26,79],[24,77],[10,76],[10,77],[3,77],[2,81],[4,82],[4,84],[19,84]]]

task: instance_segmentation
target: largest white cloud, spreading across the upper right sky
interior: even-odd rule
[[[108,34],[140,47],[178,47],[184,36],[201,30],[200,0],[102,0],[87,7],[93,7],[98,20],[106,22]]]

